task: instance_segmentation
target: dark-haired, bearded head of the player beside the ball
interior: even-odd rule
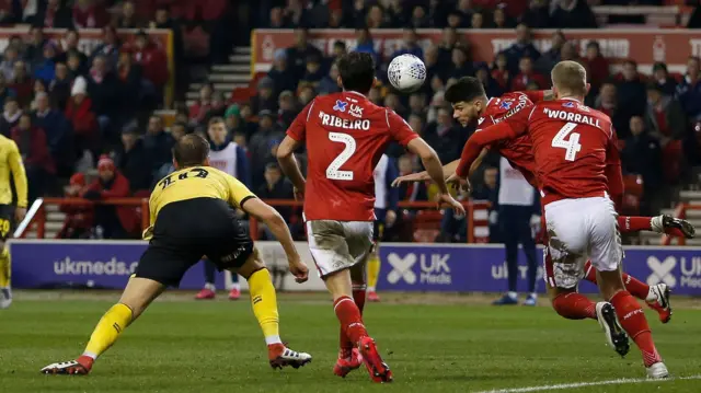
[[[463,127],[480,117],[487,102],[484,85],[473,77],[460,78],[446,90],[444,97],[452,105],[452,117]]]

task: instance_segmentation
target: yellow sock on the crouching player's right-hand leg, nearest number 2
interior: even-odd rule
[[[249,291],[253,313],[258,320],[266,344],[281,343],[279,317],[277,314],[277,296],[267,269],[255,271],[249,277]]]

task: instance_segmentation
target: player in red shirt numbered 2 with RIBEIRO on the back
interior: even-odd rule
[[[343,92],[307,105],[287,130],[277,159],[296,192],[304,196],[309,248],[341,322],[334,373],[345,377],[365,362],[375,382],[389,382],[392,373],[361,317],[365,259],[372,246],[375,221],[374,170],[387,146],[395,140],[418,154],[438,184],[439,204],[461,213],[464,209],[450,196],[436,152],[399,115],[367,99],[375,83],[372,57],[345,55],[338,60],[338,73]],[[307,180],[292,154],[304,145]]]

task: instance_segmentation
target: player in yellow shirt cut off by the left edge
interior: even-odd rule
[[[14,181],[16,192],[16,207],[12,206],[12,189],[10,174]],[[16,143],[12,139],[0,135],[0,309],[7,309],[12,303],[10,276],[12,266],[10,251],[5,241],[12,234],[11,230],[19,224],[26,215],[26,174],[22,165],[22,157]]]

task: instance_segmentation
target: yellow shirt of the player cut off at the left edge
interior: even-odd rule
[[[12,204],[10,172],[14,180],[14,190],[18,193],[18,206],[26,207],[26,174],[20,149],[12,139],[0,135],[0,205]]]

